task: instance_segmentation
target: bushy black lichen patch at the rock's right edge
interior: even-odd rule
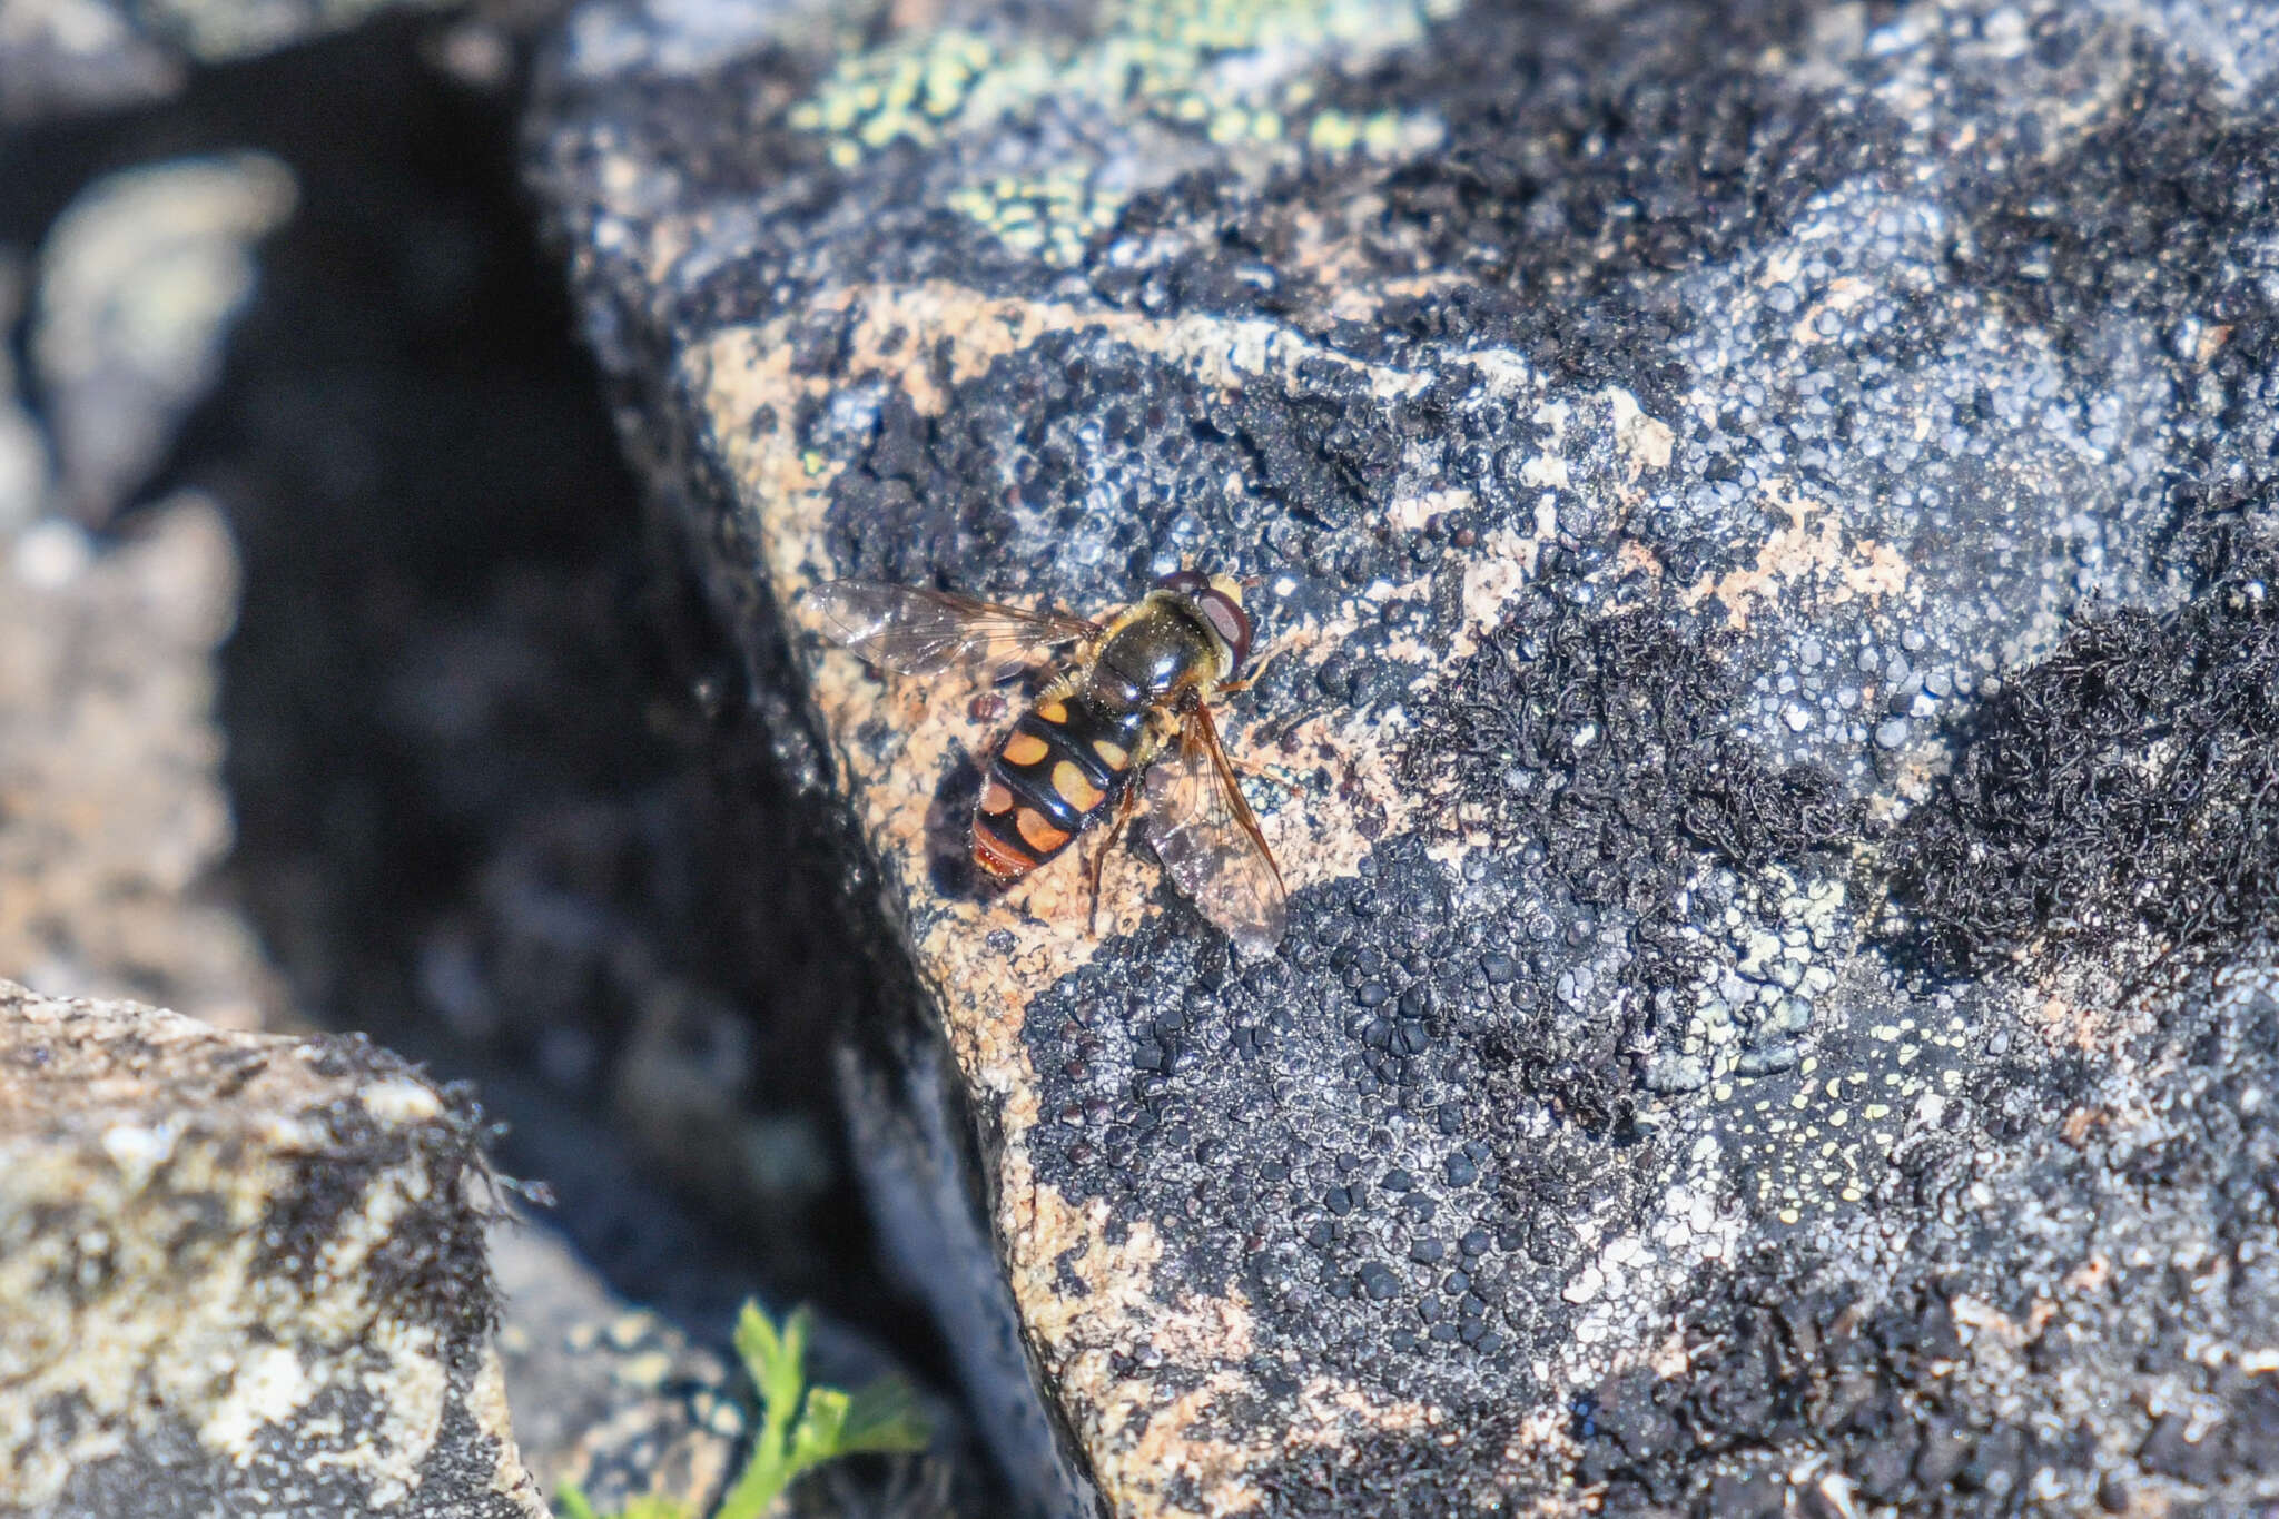
[[[1892,840],[1892,943],[1937,975],[2012,954],[2140,968],[2279,913],[2279,549],[2167,617],[2088,617],[1987,701]]]

